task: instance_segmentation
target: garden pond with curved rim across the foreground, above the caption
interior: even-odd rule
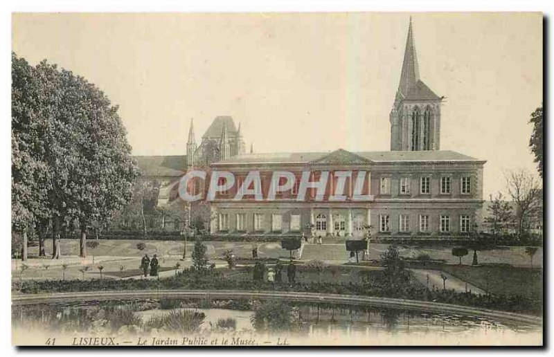
[[[197,344],[191,336],[218,335],[240,336],[258,345],[510,345],[540,343],[542,338],[539,326],[479,316],[257,300],[14,306],[12,324],[15,331],[46,330],[58,336],[142,336],[152,338],[149,345],[168,336],[179,336],[177,345],[186,345],[184,336]]]

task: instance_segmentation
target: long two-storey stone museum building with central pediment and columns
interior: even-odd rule
[[[329,172],[326,192],[337,187],[336,172],[351,171],[346,179],[345,201],[316,201],[314,190],[297,201],[295,188],[278,194],[275,201],[256,201],[253,196],[233,200],[235,185],[211,202],[213,235],[337,236],[372,235],[410,237],[458,237],[470,235],[481,219],[483,163],[449,151],[346,152],[244,154],[214,163],[213,170],[228,171],[239,182],[251,170],[259,170],[262,196],[267,196],[271,174]],[[368,201],[352,197],[357,172],[368,172],[363,194]]]

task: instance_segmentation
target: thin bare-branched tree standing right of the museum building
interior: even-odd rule
[[[542,187],[538,178],[524,170],[515,170],[506,176],[506,187],[516,206],[515,219],[517,232],[526,232],[533,214],[542,199]]]

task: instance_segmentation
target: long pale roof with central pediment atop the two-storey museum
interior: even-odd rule
[[[342,159],[342,161],[341,161]],[[363,165],[364,163],[389,162],[445,162],[474,161],[484,162],[471,156],[449,150],[427,150],[418,152],[348,152],[343,149],[334,152],[289,152],[269,154],[241,154],[232,156],[213,165],[226,164],[259,164],[259,163],[342,163]]]

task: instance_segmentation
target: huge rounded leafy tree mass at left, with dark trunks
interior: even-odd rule
[[[12,55],[12,66],[23,62]],[[30,116],[26,109],[14,111],[12,118],[12,156],[17,159],[12,158],[12,180],[17,183],[12,184],[13,215],[24,221],[19,226],[36,223],[39,232],[51,226],[53,258],[60,257],[60,233],[80,228],[84,257],[87,226],[107,220],[124,205],[137,176],[125,129],[117,107],[84,78],[59,71],[46,61],[25,68],[30,80],[19,80],[22,84],[14,80],[12,103],[17,103],[19,95],[35,107],[30,119],[26,118]],[[19,124],[25,120],[35,131]],[[28,132],[33,134],[35,145],[19,143]],[[38,184],[42,201],[18,195],[23,191],[19,186],[26,182],[21,176],[27,178],[25,170],[33,170],[33,165],[20,163],[28,162],[21,151],[42,165],[39,171],[43,177]],[[31,209],[37,203],[44,203],[44,208]]]

